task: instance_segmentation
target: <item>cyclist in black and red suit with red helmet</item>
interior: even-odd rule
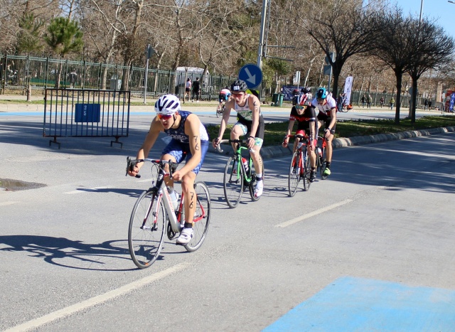
[[[298,98],[296,99],[296,105],[291,109],[291,115],[289,116],[289,125],[287,127],[286,136],[284,136],[283,146],[287,147],[289,144],[289,135],[294,127],[294,122],[297,121],[296,134],[302,134],[303,136],[309,136],[309,144],[306,146],[308,154],[310,156],[311,172],[310,181],[316,180],[316,154],[315,148],[318,142],[317,140],[317,124],[316,124],[316,109],[311,105],[311,90],[304,87],[301,90]],[[299,139],[295,139],[294,148],[292,152],[296,151],[297,143]]]

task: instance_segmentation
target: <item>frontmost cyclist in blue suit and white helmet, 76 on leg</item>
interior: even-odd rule
[[[155,112],[156,117],[151,122],[149,133],[137,152],[136,159],[148,156],[160,132],[172,137],[161,152],[161,159],[178,164],[186,159],[185,166],[172,173],[172,179],[165,178],[167,186],[173,186],[173,181],[181,181],[182,191],[189,198],[183,200],[185,227],[177,239],[179,245],[186,245],[193,237],[193,216],[196,212],[194,181],[208,150],[208,134],[196,114],[181,110],[180,101],[175,95],[161,96],[155,103]],[[129,175],[136,176],[143,164],[136,164],[132,171],[128,171]]]

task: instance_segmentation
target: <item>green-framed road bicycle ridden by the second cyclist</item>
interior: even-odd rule
[[[230,208],[237,207],[242,193],[246,190],[250,191],[250,196],[253,201],[259,200],[259,197],[255,197],[255,184],[256,184],[256,173],[255,164],[248,153],[248,157],[242,156],[243,151],[250,151],[247,146],[242,145],[246,143],[242,139],[222,139],[217,149],[219,152],[223,152],[220,144],[233,143],[235,144],[234,154],[229,157],[228,162],[225,166],[225,173],[223,176],[223,190],[225,193],[226,202]],[[262,176],[264,176],[264,163],[262,157],[259,155]]]

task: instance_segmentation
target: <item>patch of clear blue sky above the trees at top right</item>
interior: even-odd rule
[[[455,39],[455,4],[447,0],[392,0],[393,2],[403,9],[405,16],[412,14],[417,19],[420,16],[420,4],[423,2],[422,17],[437,20],[437,25]]]

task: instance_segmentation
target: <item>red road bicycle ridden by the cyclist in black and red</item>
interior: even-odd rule
[[[296,194],[300,181],[304,184],[304,191],[309,191],[311,185],[311,162],[308,150],[306,149],[307,144],[309,144],[309,136],[295,134],[287,135],[287,137],[299,139],[297,149],[294,154],[292,154],[291,165],[289,166],[288,190],[289,196],[293,197]]]

